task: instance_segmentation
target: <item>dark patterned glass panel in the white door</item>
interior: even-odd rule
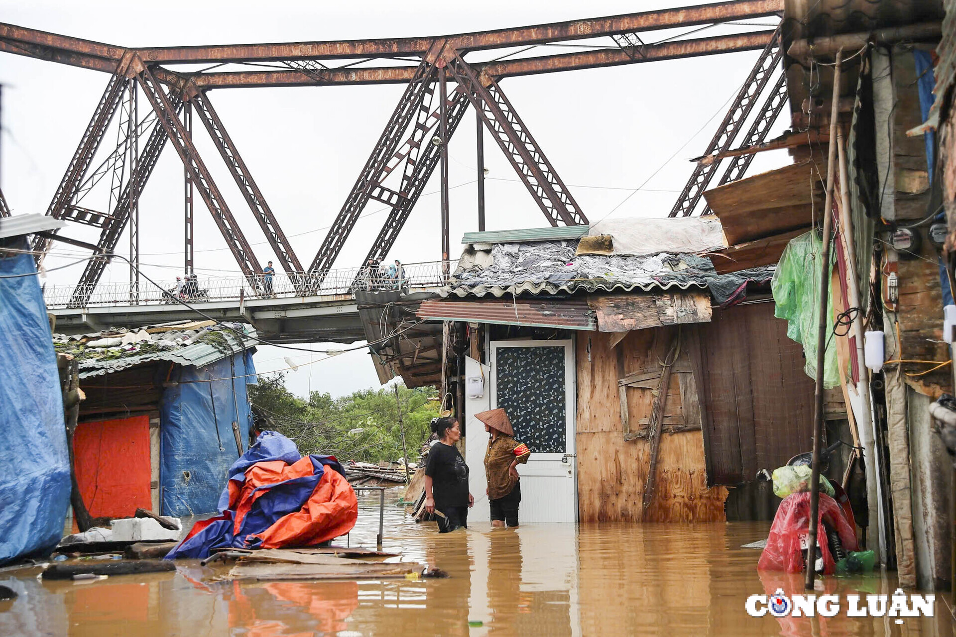
[[[538,454],[564,454],[567,388],[564,347],[497,350],[497,406],[511,418],[514,437]]]

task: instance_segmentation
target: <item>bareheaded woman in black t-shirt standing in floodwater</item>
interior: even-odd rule
[[[467,528],[468,508],[475,500],[468,493],[465,458],[455,447],[462,437],[461,427],[455,418],[435,418],[431,431],[438,435],[438,442],[424,466],[425,511],[436,514],[440,533]]]

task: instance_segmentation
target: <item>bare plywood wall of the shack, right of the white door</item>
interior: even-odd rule
[[[663,434],[658,489],[641,508],[650,462],[650,443],[624,442],[618,379],[644,369],[660,368],[672,328],[630,332],[611,349],[612,334],[580,332],[577,362],[577,500],[581,521],[722,521],[724,487],[708,489],[701,432]],[[684,348],[682,348],[683,350]],[[689,370],[684,355],[671,375],[665,415],[682,415],[681,379]],[[651,412],[650,391],[630,390],[632,422]]]

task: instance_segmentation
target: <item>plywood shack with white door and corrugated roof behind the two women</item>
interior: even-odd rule
[[[477,470],[487,435],[471,416],[503,407],[532,448],[519,469],[524,520],[772,516],[770,498],[760,511],[738,501],[753,489],[734,487],[811,448],[814,393],[799,344],[773,316],[773,265],[717,272],[699,256],[725,246],[713,218],[464,243],[445,298],[418,315],[467,326],[448,330],[467,346],[446,347],[469,354],[458,413],[476,469],[472,515],[488,507]]]

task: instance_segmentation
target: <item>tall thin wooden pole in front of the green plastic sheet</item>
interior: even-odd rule
[[[834,65],[833,107],[830,109],[830,153],[827,160],[827,196],[823,204],[823,245],[820,249],[820,317],[816,330],[816,383],[814,390],[814,454],[810,474],[810,529],[807,537],[807,567],[804,585],[814,589],[816,563],[816,527],[820,505],[820,438],[823,436],[823,368],[826,359],[827,334],[833,326],[827,317],[830,298],[830,231],[833,220],[834,175],[836,172],[836,117],[839,116],[840,59],[843,49],[836,52]],[[826,538],[823,541],[827,541]]]

